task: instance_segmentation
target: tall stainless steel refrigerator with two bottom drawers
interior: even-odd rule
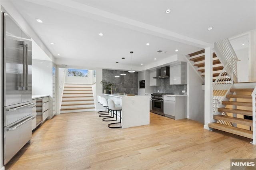
[[[6,164],[32,136],[32,42],[6,12],[3,21],[3,144]]]

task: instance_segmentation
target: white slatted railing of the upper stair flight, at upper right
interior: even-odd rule
[[[237,82],[237,61],[239,61],[236,52],[234,51],[231,43],[228,39],[221,40],[219,42],[214,43],[214,52],[220,59],[223,65],[226,65],[230,59],[233,59],[230,63],[232,65],[233,72],[233,81]],[[224,57],[224,59],[223,59]],[[229,74],[231,74],[231,72]]]

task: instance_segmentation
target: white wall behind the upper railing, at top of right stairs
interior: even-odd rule
[[[238,82],[249,81],[249,49],[244,48],[235,51],[238,59],[237,61],[237,80]]]

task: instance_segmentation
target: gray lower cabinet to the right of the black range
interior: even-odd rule
[[[186,114],[186,96],[164,96],[164,114],[172,119],[185,119]]]

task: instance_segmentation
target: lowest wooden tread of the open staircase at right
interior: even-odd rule
[[[218,130],[222,130],[224,132],[229,132],[229,133],[232,133],[232,134],[237,134],[239,136],[244,136],[246,138],[251,138],[252,139],[252,131],[251,130],[232,127],[232,126],[228,126],[228,125],[222,125],[220,123],[209,123],[208,127],[218,129]]]

